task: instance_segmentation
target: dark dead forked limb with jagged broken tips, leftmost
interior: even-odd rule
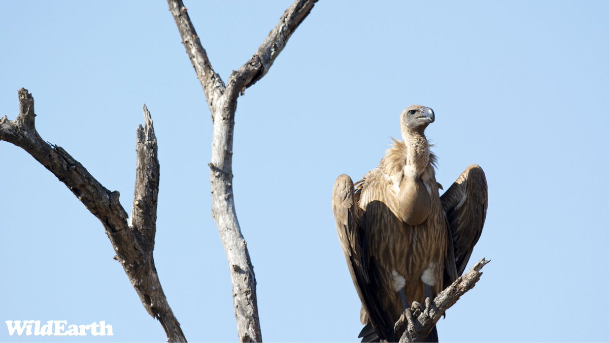
[[[106,189],[63,148],[51,145],[35,128],[33,98],[25,88],[18,91],[16,120],[0,118],[0,140],[13,143],[44,165],[95,215],[110,239],[116,256],[138,293],[144,308],[161,322],[170,342],[186,342],[180,323],[171,311],[154,265],[155,219],[157,217],[158,159],[152,118],[144,106],[145,128],[138,128],[138,171],[132,225],[119,202],[119,192]],[[146,189],[150,187],[150,189]]]

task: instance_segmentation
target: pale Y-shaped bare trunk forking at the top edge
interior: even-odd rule
[[[181,0],[167,0],[174,16],[186,54],[203,86],[211,111],[211,215],[216,220],[220,239],[227,255],[233,283],[233,305],[241,342],[261,342],[260,320],[256,301],[256,277],[247,244],[241,233],[233,198],[233,131],[237,98],[268,71],[287,40],[306,18],[317,0],[296,0],[281,16],[279,23],[238,71],[233,71],[227,85],[213,70],[199,35],[195,32]]]

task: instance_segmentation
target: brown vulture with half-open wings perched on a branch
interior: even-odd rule
[[[378,167],[353,183],[334,183],[332,207],[347,265],[362,302],[362,342],[397,342],[404,309],[432,299],[463,273],[482,233],[488,191],[484,171],[470,165],[440,197],[436,157],[424,131],[429,107],[400,115],[403,140],[393,139]],[[437,330],[426,341],[438,341]]]

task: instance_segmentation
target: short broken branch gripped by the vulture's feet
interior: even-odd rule
[[[490,260],[482,258],[476,262],[465,275],[459,276],[450,286],[440,292],[434,301],[426,298],[426,306],[420,309],[406,309],[395,324],[395,331],[404,330],[400,342],[420,342],[428,336],[435,323],[440,320],[448,308],[454,305],[465,292],[472,289],[482,272],[480,271]]]

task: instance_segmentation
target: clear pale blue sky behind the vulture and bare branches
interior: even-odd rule
[[[291,3],[186,1],[216,71],[246,62]],[[609,341],[606,215],[609,2],[320,0],[239,98],[234,192],[266,341],[356,341],[359,300],[331,190],[400,137],[410,104],[448,186],[469,164],[490,204],[470,265],[492,262],[438,324],[442,341]],[[161,163],[155,261],[186,338],[235,341],[230,276],[210,216],[211,122],[164,1],[3,1],[0,115],[35,98],[43,139],[130,212],[141,104]],[[4,320],[105,320],[104,341],[165,341],[104,228],[20,148],[0,142]],[[72,341],[102,341],[88,336]]]

